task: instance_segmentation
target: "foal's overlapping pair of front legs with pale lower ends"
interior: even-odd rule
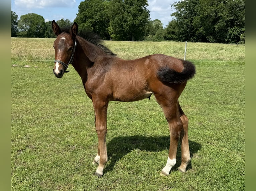
[[[93,106],[95,112],[95,127],[99,141],[98,153],[93,163],[99,163],[95,174],[101,177],[103,175],[104,166],[108,161],[106,144],[108,102],[99,99],[93,99]]]

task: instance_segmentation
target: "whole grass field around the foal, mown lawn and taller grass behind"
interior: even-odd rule
[[[191,162],[160,176],[169,130],[154,97],[110,102],[104,176],[97,178],[92,101],[79,75],[57,79],[54,39],[12,38],[12,190],[245,190],[245,46],[188,43],[197,74],[179,98],[189,118]],[[115,42],[123,59],[153,53],[184,58],[185,43]],[[24,50],[25,49],[25,50]],[[30,65],[30,68],[24,68]]]

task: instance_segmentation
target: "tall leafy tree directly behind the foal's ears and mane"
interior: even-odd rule
[[[78,6],[75,22],[80,30],[97,33],[103,39],[109,39],[108,0],[85,0]]]

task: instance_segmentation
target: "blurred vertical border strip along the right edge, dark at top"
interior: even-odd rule
[[[245,190],[255,189],[256,151],[256,25],[255,6],[246,1],[245,11]]]

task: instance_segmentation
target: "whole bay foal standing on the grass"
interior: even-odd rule
[[[82,79],[86,94],[93,102],[95,126],[98,134],[98,153],[93,163],[99,163],[96,175],[103,175],[108,160],[106,133],[109,101],[138,101],[153,94],[161,106],[170,130],[169,156],[161,175],[169,175],[176,163],[178,139],[181,141],[181,164],[186,171],[190,161],[187,127],[188,119],[178,98],[189,79],[195,74],[195,66],[162,54],[154,54],[136,60],[116,57],[96,36],[78,35],[78,25],[62,30],[52,21],[57,36],[54,41],[55,61],[53,73],[61,78],[72,64]]]

